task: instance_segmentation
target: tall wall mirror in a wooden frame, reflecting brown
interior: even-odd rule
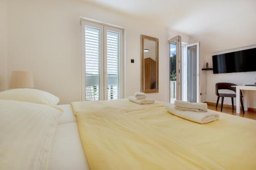
[[[141,35],[141,82],[140,91],[158,92],[158,38]]]

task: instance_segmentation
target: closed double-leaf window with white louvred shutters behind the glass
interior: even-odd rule
[[[82,100],[122,97],[122,30],[82,21]]]

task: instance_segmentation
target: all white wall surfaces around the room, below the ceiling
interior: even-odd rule
[[[159,38],[159,93],[148,96],[166,102],[169,101],[168,38],[181,35],[182,42],[200,41],[201,68],[206,61],[211,62],[210,57],[214,52],[256,44],[256,33],[248,35],[243,32],[231,37],[229,34],[216,36],[203,32],[202,35],[187,36],[78,0],[9,0],[8,15],[6,1],[0,2],[0,90],[7,89],[6,72],[9,80],[12,70],[30,70],[34,75],[35,88],[59,96],[61,103],[81,99],[80,17],[125,28],[126,96],[140,90],[140,34]],[[131,63],[131,59],[135,59],[135,63]],[[246,72],[212,75],[210,71],[201,71],[201,101],[216,102],[216,82],[225,80],[237,84],[251,84],[255,79],[254,74]],[[255,93],[249,98],[249,107],[255,108],[253,98],[255,99]],[[230,102],[225,101],[225,104]]]

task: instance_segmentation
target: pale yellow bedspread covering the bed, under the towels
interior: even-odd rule
[[[91,169],[255,169],[256,121],[220,113],[205,125],[163,103],[72,103]]]

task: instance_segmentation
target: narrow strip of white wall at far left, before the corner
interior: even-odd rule
[[[7,89],[7,4],[0,1],[0,91]]]

